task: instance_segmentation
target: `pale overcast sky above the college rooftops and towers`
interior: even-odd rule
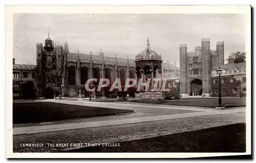
[[[201,46],[202,32],[210,37],[211,49],[225,41],[230,52],[245,51],[245,16],[238,14],[15,14],[13,58],[16,64],[36,64],[36,43],[50,31],[54,43],[69,43],[70,52],[135,59],[146,48],[161,53],[164,62],[179,66],[179,44],[188,51]]]

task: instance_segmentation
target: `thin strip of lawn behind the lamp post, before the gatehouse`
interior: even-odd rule
[[[182,100],[130,100],[139,103],[156,103],[167,105],[183,105],[183,106],[202,106],[202,107],[216,107],[218,106],[218,98],[190,98]],[[245,98],[223,98],[222,105],[225,107],[239,107],[246,106]]]

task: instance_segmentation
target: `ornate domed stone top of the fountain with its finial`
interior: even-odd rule
[[[147,38],[147,46],[144,51],[141,53],[138,53],[135,57],[135,61],[145,61],[145,60],[159,60],[162,61],[161,55],[158,55],[158,53],[155,50],[152,50],[150,48],[150,39]]]

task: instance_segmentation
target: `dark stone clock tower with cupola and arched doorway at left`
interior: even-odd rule
[[[38,48],[37,62],[37,95],[45,98],[54,98],[58,95],[61,81],[61,59],[62,47],[54,47],[54,42],[51,40],[49,33],[45,40],[45,45]],[[57,58],[58,57],[58,58]]]

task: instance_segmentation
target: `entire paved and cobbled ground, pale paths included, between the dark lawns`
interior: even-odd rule
[[[135,113],[77,118],[50,123],[16,124],[13,126],[14,151],[54,152],[74,149],[70,146],[25,149],[19,146],[20,143],[115,143],[234,123],[245,123],[245,107],[216,110],[215,108],[136,102],[47,101],[127,109],[134,110]]]

